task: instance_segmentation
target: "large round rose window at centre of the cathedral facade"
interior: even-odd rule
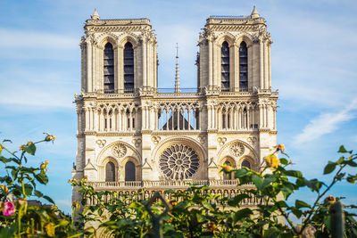
[[[200,160],[192,148],[174,144],[162,152],[159,164],[167,179],[189,179],[197,172]]]

